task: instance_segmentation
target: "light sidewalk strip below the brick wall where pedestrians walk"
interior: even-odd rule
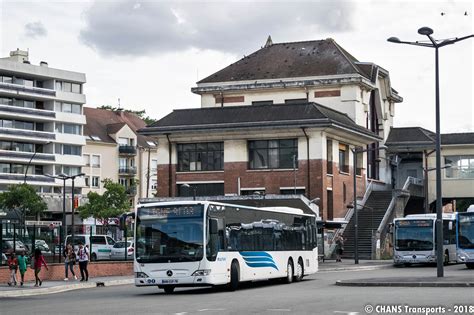
[[[41,287],[35,287],[34,282],[26,282],[23,287],[20,287],[19,283],[17,286],[11,287],[6,283],[0,283],[0,298],[59,293],[85,288],[95,288],[102,284],[104,286],[133,284],[133,281],[132,276],[117,276],[89,278],[88,282],[80,282],[79,280],[45,280]]]

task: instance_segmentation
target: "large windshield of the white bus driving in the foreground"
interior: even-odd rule
[[[201,260],[203,258],[203,221],[203,205],[138,208],[137,262]]]

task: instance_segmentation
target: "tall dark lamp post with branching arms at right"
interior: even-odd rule
[[[433,30],[429,27],[422,27],[418,30],[418,34],[428,37],[429,42],[407,42],[401,41],[397,37],[390,37],[387,41],[395,44],[407,44],[421,47],[429,47],[435,49],[435,94],[436,94],[436,266],[437,276],[439,278],[444,276],[443,260],[444,253],[440,248],[443,248],[443,204],[441,192],[441,132],[440,132],[440,105],[439,105],[439,48],[446,45],[451,45],[456,42],[474,37],[473,35],[456,37],[452,39],[436,40],[431,35]]]

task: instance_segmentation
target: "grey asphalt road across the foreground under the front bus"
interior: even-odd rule
[[[360,288],[334,285],[336,280],[395,277],[400,274],[433,276],[436,275],[436,268],[319,272],[300,283],[250,283],[236,292],[186,288],[167,295],[155,287],[127,285],[93,288],[0,299],[0,314],[367,314],[364,308],[368,304],[374,308],[378,306],[379,311],[380,305],[443,306],[446,307],[444,314],[455,314],[454,305],[470,303],[474,307],[472,288]],[[445,275],[472,277],[474,271],[464,265],[454,265],[446,267]],[[372,314],[389,314],[376,310]],[[403,311],[401,314],[415,313]],[[474,309],[471,314],[474,314]]]

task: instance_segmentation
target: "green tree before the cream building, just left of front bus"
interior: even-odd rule
[[[110,179],[105,179],[102,182],[106,190],[104,194],[89,192],[87,194],[88,202],[78,207],[77,210],[82,219],[92,217],[102,222],[107,228],[109,218],[116,218],[127,212],[130,209],[130,204],[125,187]]]

